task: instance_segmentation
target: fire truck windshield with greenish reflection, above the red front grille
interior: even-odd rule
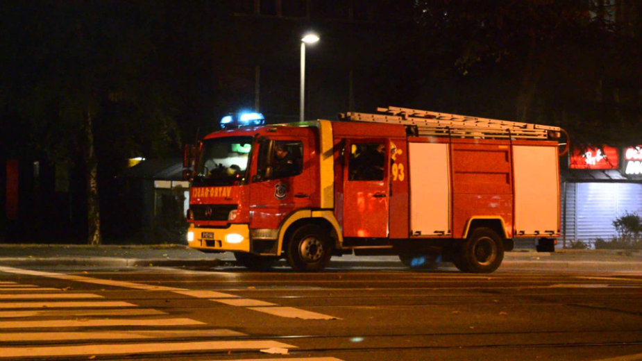
[[[245,184],[252,139],[223,137],[203,141],[196,162],[194,185]]]

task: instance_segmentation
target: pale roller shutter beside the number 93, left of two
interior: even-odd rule
[[[450,234],[448,144],[408,144],[412,235]]]

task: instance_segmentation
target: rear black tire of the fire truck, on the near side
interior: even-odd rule
[[[489,274],[504,260],[504,242],[491,228],[475,228],[455,255],[453,262],[462,272]]]

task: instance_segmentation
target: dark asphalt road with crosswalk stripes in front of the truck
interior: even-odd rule
[[[42,358],[642,360],[642,274],[0,266],[0,361]]]

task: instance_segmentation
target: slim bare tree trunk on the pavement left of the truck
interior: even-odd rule
[[[86,149],[85,165],[87,165],[87,243],[101,244],[101,217],[98,195],[98,160],[94,153],[94,130],[92,127],[92,112],[87,111],[87,124],[85,124]]]

